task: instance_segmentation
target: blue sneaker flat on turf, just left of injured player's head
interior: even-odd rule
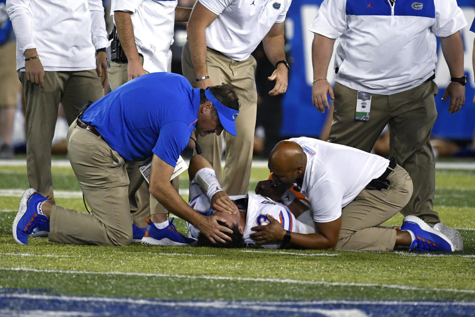
[[[161,245],[161,246],[188,246],[193,245],[196,240],[187,238],[177,231],[172,218],[168,227],[158,229],[152,220],[147,219],[147,230],[142,238],[143,245]]]

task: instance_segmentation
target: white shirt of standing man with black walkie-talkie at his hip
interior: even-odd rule
[[[114,11],[132,12],[135,44],[143,55],[143,69],[149,73],[170,71],[178,0],[112,0]],[[114,21],[115,24],[115,21]]]

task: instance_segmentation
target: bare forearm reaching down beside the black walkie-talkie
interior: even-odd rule
[[[114,11],[115,26],[120,45],[127,56],[128,79],[131,80],[146,74],[139,58],[139,51],[135,44],[134,27],[130,11]]]

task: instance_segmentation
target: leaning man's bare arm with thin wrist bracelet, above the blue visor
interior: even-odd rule
[[[199,1],[196,1],[187,27],[188,45],[190,46],[191,62],[193,63],[196,78],[208,76],[205,29],[217,17],[217,14],[208,10]],[[209,78],[196,82],[196,88],[206,89],[209,86],[214,86]]]

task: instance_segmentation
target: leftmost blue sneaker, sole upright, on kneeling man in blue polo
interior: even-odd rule
[[[48,198],[38,194],[34,188],[30,188],[23,193],[18,213],[12,225],[13,238],[17,243],[27,244],[28,236],[33,232],[33,229],[40,222],[49,222],[47,216],[38,211],[38,205],[46,200]]]

